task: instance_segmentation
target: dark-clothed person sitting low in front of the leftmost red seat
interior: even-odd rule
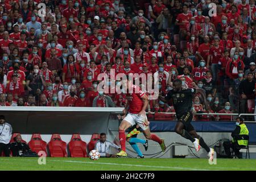
[[[14,138],[13,143],[11,143],[11,152],[13,152],[14,157],[18,156],[37,156],[35,152],[32,152],[30,147],[24,142],[22,142],[22,138],[20,135],[17,135]]]

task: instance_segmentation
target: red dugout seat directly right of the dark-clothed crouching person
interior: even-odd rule
[[[32,151],[38,154],[39,151],[44,151],[47,154],[47,143],[42,140],[40,134],[33,134],[30,142],[28,142],[28,146]]]

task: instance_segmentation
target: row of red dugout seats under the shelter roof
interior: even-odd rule
[[[14,138],[20,133],[14,133],[10,143],[14,142]],[[88,144],[89,151],[94,149],[96,142],[100,139],[100,134],[93,134]],[[27,143],[22,139],[22,142]],[[44,151],[47,154],[47,143],[41,138],[40,134],[33,134],[28,146],[32,151],[38,154],[39,151]],[[48,143],[49,156],[51,157],[67,157],[67,143],[64,142],[60,134],[52,134],[51,140]],[[86,158],[86,142],[82,141],[80,134],[73,134],[71,141],[68,143],[68,150],[72,158]]]

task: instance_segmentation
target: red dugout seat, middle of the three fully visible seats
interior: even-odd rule
[[[51,141],[48,143],[51,157],[67,157],[67,143],[61,140],[60,134],[52,134]]]

